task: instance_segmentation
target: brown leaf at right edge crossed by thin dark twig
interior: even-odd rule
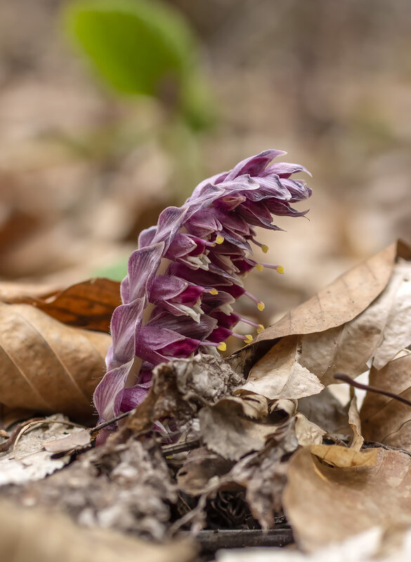
[[[370,384],[411,400],[411,353],[390,361],[381,370],[372,368]],[[360,416],[365,439],[411,451],[410,406],[367,392]]]

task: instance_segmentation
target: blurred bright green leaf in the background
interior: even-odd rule
[[[209,124],[197,42],[171,6],[158,0],[74,0],[66,5],[65,23],[99,76],[116,91],[158,98],[193,128]]]

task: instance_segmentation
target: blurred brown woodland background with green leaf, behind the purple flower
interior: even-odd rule
[[[0,4],[2,280],[121,279],[162,208],[267,148],[314,194],[260,236],[265,323],[411,241],[410,2],[133,2]]]

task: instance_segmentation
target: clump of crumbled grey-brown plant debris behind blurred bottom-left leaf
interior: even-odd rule
[[[176,502],[159,446],[134,439],[91,450],[64,471],[7,493],[22,504],[67,511],[84,526],[132,531],[152,540],[164,540],[169,502]]]

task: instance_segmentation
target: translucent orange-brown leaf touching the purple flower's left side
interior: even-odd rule
[[[112,279],[89,279],[53,293],[35,293],[36,296],[24,286],[19,290],[20,295],[13,296],[8,289],[2,300],[33,305],[69,326],[100,332],[109,331],[112,313],[121,304],[119,282]]]

